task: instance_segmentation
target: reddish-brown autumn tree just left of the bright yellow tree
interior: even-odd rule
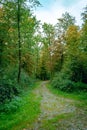
[[[64,60],[65,45],[61,44],[59,40],[55,40],[50,47],[52,57],[52,72],[59,72],[62,69]]]

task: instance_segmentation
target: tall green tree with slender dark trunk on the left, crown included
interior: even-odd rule
[[[0,1],[2,3],[2,8],[5,12],[4,21],[7,24],[7,31],[10,34],[10,39],[8,43],[15,45],[14,50],[16,50],[17,63],[18,63],[18,76],[17,80],[20,81],[21,68],[22,68],[22,47],[25,42],[29,39],[32,41],[32,36],[35,32],[36,19],[30,13],[31,5],[38,6],[40,3],[37,0],[29,1],[31,5],[26,4],[26,0],[17,1]],[[30,23],[29,23],[30,22]],[[30,32],[28,31],[30,30]],[[13,35],[14,33],[14,35]],[[29,43],[27,42],[27,44]],[[31,44],[31,43],[30,43]],[[8,45],[7,45],[8,46]],[[30,45],[29,45],[30,46]],[[31,46],[30,46],[31,48]],[[17,52],[18,51],[18,52]],[[11,51],[12,52],[12,51]]]

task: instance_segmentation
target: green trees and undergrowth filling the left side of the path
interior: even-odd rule
[[[37,0],[30,3],[39,4]],[[0,1],[0,103],[11,101],[24,86],[34,82],[32,46],[37,25],[26,0]]]

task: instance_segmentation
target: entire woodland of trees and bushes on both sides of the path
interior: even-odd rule
[[[87,6],[81,26],[68,12],[56,25],[36,19],[37,0],[0,0],[0,104],[37,80],[87,92]]]

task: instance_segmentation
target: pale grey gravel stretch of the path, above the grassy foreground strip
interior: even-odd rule
[[[73,100],[57,97],[49,91],[45,84],[46,82],[42,82],[41,87],[35,91],[37,96],[42,97],[40,118],[51,119],[56,115],[76,110]]]

